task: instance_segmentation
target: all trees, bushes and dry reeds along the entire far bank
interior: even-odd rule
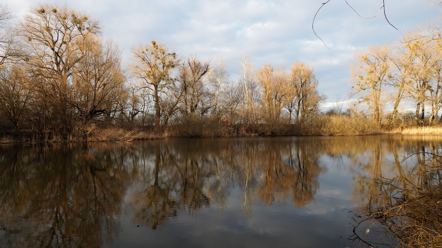
[[[134,46],[122,65],[117,45],[101,31],[98,20],[67,5],[39,4],[19,20],[0,6],[0,143],[374,134],[405,125],[398,112],[404,98],[417,103],[409,123],[440,123],[438,30],[394,52],[358,55],[353,93],[369,110],[327,113],[314,69],[304,62],[255,69],[245,55],[232,80],[221,58],[182,57],[152,40]],[[398,93],[384,118],[387,86]]]

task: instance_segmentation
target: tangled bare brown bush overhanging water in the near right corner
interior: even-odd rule
[[[401,160],[392,149],[394,176],[373,172],[369,201],[353,216],[354,240],[371,247],[442,246],[442,145],[416,140],[407,147]],[[375,235],[367,236],[370,230]]]

